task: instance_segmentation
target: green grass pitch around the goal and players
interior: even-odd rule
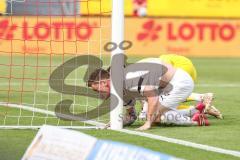
[[[67,60],[68,58],[64,59]],[[103,57],[108,65],[108,58]],[[130,57],[131,62],[140,58]],[[50,73],[61,64],[63,58],[37,56],[1,56],[0,59],[0,102],[22,103],[53,111],[61,99],[74,99],[73,112],[90,110],[101,103],[100,100],[72,95],[61,95],[48,86]],[[193,58],[198,71],[195,92],[215,93],[214,105],[224,115],[224,120],[209,117],[209,127],[154,126],[148,133],[172,137],[200,144],[240,151],[240,59],[228,58]],[[14,64],[9,66],[9,64]],[[23,66],[25,64],[25,66]],[[36,67],[36,64],[38,67]],[[11,73],[11,74],[10,74]],[[69,75],[66,83],[83,85],[83,69],[77,69]],[[11,77],[11,79],[10,79]],[[24,80],[23,80],[24,79]],[[35,80],[37,79],[37,80]],[[77,80],[74,80],[77,79]],[[9,85],[10,83],[10,85]],[[34,92],[37,91],[37,92]],[[96,120],[107,121],[107,115]],[[79,122],[58,120],[49,115],[0,106],[0,125],[84,125]],[[128,129],[135,129],[143,124],[137,121]],[[132,136],[110,130],[80,130],[101,138],[126,142],[155,151],[190,160],[225,160],[238,159],[233,156],[207,152],[191,147],[156,141],[149,138]],[[37,130],[0,130],[0,159],[20,159]]]

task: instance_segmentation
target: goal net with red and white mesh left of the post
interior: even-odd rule
[[[111,54],[104,45],[123,39],[121,6],[122,0],[113,0],[114,9],[110,0],[6,1],[0,16],[1,128],[104,127],[110,112],[112,127],[122,127],[114,118],[122,103],[110,109],[110,101],[86,86],[89,74],[108,68],[111,55],[120,52]]]

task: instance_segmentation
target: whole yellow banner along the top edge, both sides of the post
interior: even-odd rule
[[[80,13],[110,14],[111,0],[80,1]],[[133,14],[133,1],[125,0],[125,14]],[[240,0],[147,0],[147,16],[240,17]]]

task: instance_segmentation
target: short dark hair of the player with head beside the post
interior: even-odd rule
[[[100,81],[102,79],[108,79],[110,74],[107,70],[99,68],[92,72],[88,78],[87,86],[91,87],[94,82]]]

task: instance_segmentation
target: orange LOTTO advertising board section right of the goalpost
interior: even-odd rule
[[[129,19],[126,26],[135,44],[131,53],[240,57],[240,20]]]

